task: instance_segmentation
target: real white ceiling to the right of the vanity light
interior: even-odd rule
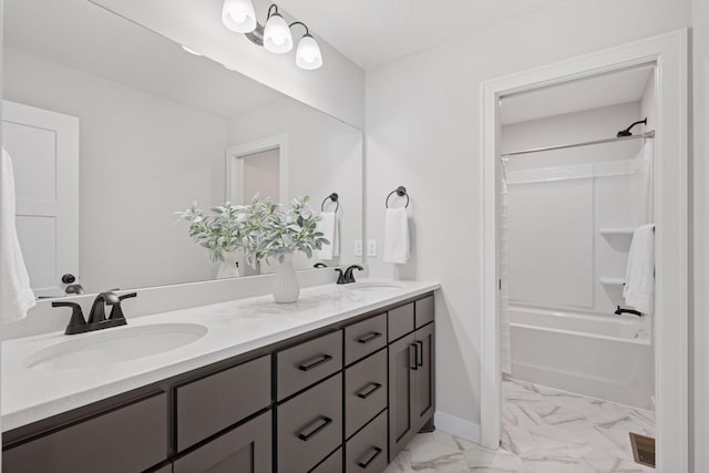
[[[370,69],[563,1],[278,0],[278,6]]]

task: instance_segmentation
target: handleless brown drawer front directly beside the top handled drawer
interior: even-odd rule
[[[177,451],[270,404],[268,356],[175,389]]]

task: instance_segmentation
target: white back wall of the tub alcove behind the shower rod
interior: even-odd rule
[[[613,137],[640,116],[640,103],[514,123],[502,127],[503,151]],[[542,152],[508,158],[507,274],[510,302],[615,317],[625,306],[623,286],[602,278],[625,278],[629,235],[603,236],[602,228],[634,228],[646,223],[635,185],[638,173],[542,182],[549,169],[586,174],[587,164],[633,160],[640,141]],[[583,166],[583,167],[580,167]],[[536,169],[532,183],[530,171]],[[592,175],[594,175],[592,173]]]

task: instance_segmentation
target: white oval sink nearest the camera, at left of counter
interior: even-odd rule
[[[71,336],[23,360],[25,368],[65,370],[100,368],[122,361],[164,353],[207,335],[198,323],[160,323],[119,327]]]

